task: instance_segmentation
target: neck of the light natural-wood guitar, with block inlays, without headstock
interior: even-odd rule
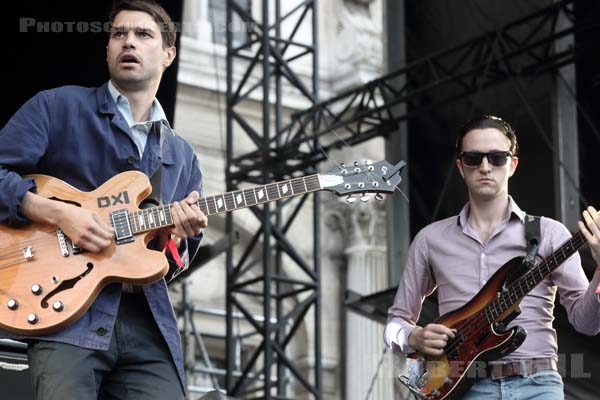
[[[323,189],[321,175],[307,175],[250,189],[234,190],[198,199],[196,205],[207,216],[252,207],[288,197],[299,196]],[[173,226],[172,204],[164,204],[131,212],[129,223],[133,234]]]

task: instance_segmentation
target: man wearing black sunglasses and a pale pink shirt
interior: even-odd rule
[[[507,261],[524,256],[525,212],[508,194],[508,181],[519,164],[517,138],[504,120],[484,115],[459,131],[456,166],[469,203],[455,217],[425,227],[410,246],[408,259],[389,310],[384,339],[404,354],[442,355],[455,332],[441,324],[416,326],[425,296],[438,290],[440,315],[471,300]],[[600,215],[589,207],[580,229],[600,266]],[[539,257],[551,255],[569,237],[560,222],[542,217]],[[563,399],[557,371],[556,331],[552,327],[556,292],[569,321],[581,333],[600,332],[595,289],[600,267],[588,282],[576,253],[537,285],[521,302],[522,313],[509,324],[527,331],[521,346],[486,369],[465,399]],[[509,394],[510,392],[510,394]]]

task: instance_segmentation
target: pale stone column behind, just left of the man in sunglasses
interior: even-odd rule
[[[347,288],[360,295],[387,289],[384,203],[373,200],[344,205],[338,209],[337,218],[345,244]],[[365,400],[370,391],[369,399],[393,400],[393,362],[391,352],[383,355],[383,325],[353,311],[345,315],[345,399]]]

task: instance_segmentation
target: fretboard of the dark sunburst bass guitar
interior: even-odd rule
[[[532,267],[523,276],[508,286],[496,300],[488,304],[484,313],[488,322],[495,321],[516,302],[520,301],[534,287],[542,282],[552,271],[571,257],[586,243],[583,233],[577,232],[573,237],[563,243],[550,257],[540,264]]]

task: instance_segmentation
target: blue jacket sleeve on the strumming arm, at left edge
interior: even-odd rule
[[[33,171],[48,146],[48,98],[40,92],[27,101],[0,131],[0,223],[27,222],[20,212],[23,197],[35,182],[22,175]]]

